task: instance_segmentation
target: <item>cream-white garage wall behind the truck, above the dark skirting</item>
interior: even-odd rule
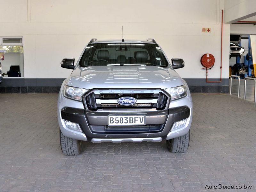
[[[122,25],[125,39],[154,38],[169,59],[183,58],[186,67],[178,69],[183,78],[205,78],[200,58],[213,54],[208,78],[220,78],[223,0],[0,0],[0,5],[6,13],[0,36],[24,38],[25,78],[66,78],[71,71],[60,68],[62,58],[77,60],[93,37],[121,39]],[[203,27],[212,32],[202,33]],[[223,78],[228,78],[229,31],[223,24]]]

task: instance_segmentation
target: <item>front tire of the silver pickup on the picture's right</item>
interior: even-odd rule
[[[166,140],[166,146],[168,150],[172,153],[184,153],[188,149],[190,138],[190,130],[186,135]]]

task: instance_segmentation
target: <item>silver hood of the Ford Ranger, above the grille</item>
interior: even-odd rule
[[[170,88],[184,82],[172,68],[156,66],[91,66],[75,68],[67,85],[93,88]]]

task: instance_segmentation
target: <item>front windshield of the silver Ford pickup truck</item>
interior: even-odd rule
[[[97,43],[88,44],[80,67],[140,65],[167,67],[168,62],[157,44]]]

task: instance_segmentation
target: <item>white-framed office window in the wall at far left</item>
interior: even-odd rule
[[[0,62],[4,77],[24,77],[23,38],[0,37]]]

